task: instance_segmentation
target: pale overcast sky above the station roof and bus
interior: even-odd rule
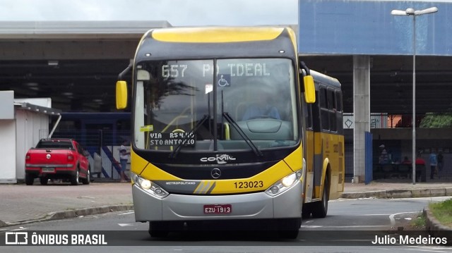
[[[171,25],[292,25],[298,0],[0,0],[0,21],[167,20]]]

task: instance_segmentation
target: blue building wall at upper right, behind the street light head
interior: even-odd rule
[[[302,54],[412,55],[412,16],[393,9],[439,11],[416,16],[416,54],[452,55],[451,1],[299,0]]]

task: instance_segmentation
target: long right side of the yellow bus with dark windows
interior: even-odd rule
[[[344,191],[345,159],[343,101],[340,82],[311,70],[316,87],[316,102],[306,104],[307,162],[303,218],[324,218],[328,199]],[[325,187],[326,186],[326,187]]]

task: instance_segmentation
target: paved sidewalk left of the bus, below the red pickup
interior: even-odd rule
[[[130,183],[0,185],[0,227],[129,209]]]

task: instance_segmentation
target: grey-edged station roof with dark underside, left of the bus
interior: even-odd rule
[[[114,84],[143,34],[167,21],[0,22],[0,90],[62,111],[114,111]]]

